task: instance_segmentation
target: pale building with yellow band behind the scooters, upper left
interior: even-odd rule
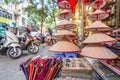
[[[8,24],[13,27],[27,25],[27,14],[23,14],[22,3],[5,4],[4,0],[0,0],[0,23]]]

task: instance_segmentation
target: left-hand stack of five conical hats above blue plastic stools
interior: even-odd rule
[[[70,41],[76,38],[76,34],[70,31],[70,29],[76,27],[76,24],[70,21],[70,18],[73,16],[70,4],[68,1],[63,0],[58,3],[58,6],[62,9],[62,12],[58,15],[60,23],[55,27],[57,33],[53,36],[59,41],[54,44],[49,51],[61,53],[80,52],[79,47]]]

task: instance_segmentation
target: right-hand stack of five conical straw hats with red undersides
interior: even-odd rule
[[[102,33],[102,31],[110,29],[109,26],[105,25],[101,21],[109,16],[101,9],[105,4],[106,1],[104,0],[96,0],[92,3],[92,7],[97,10],[88,17],[90,20],[94,20],[94,22],[90,26],[86,27],[86,29],[93,31],[93,34],[83,41],[83,43],[88,45],[82,49],[80,53],[82,56],[104,60],[115,59],[118,57],[111,50],[101,44],[102,42],[115,41],[115,39]]]

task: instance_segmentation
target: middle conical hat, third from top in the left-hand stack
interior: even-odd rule
[[[56,25],[56,29],[73,29],[76,27],[76,24],[68,20],[61,20],[59,24]]]

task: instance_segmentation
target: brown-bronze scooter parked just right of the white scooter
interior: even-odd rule
[[[27,29],[22,29],[22,32],[18,28],[17,34],[19,34],[19,44],[21,45],[23,50],[28,50],[31,54],[36,54],[39,51],[38,40],[33,39],[33,37],[27,32]]]

